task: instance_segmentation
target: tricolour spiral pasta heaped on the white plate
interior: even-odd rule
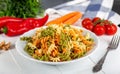
[[[94,39],[84,30],[71,25],[49,25],[39,28],[33,36],[20,38],[27,44],[24,50],[33,58],[63,62],[84,56],[94,46]]]

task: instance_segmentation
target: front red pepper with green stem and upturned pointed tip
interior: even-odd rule
[[[8,22],[2,29],[7,36],[21,35],[26,31],[29,31],[36,27],[43,26],[48,20],[48,14],[40,19],[28,18],[24,21]]]

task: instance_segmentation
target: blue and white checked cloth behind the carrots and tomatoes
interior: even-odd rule
[[[57,5],[53,7],[53,9],[56,9],[62,14],[65,12],[67,13],[68,11],[80,11],[84,15],[83,18],[100,17],[109,19],[115,24],[119,24],[119,20],[113,19],[120,19],[119,15],[112,11],[113,2],[114,0],[74,0]]]

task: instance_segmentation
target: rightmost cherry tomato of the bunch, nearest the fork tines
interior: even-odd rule
[[[105,25],[105,28],[107,35],[114,35],[117,32],[117,26],[115,24],[107,24]]]

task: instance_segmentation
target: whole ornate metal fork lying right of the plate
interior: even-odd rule
[[[100,71],[102,69],[102,65],[103,65],[103,63],[105,61],[105,58],[106,58],[108,52],[110,50],[115,50],[118,47],[119,42],[120,42],[120,37],[117,36],[117,35],[113,36],[113,38],[112,38],[112,40],[111,40],[111,42],[110,42],[110,44],[109,44],[109,46],[107,48],[107,51],[106,51],[105,55],[93,67],[93,72],[98,72],[98,71]]]

